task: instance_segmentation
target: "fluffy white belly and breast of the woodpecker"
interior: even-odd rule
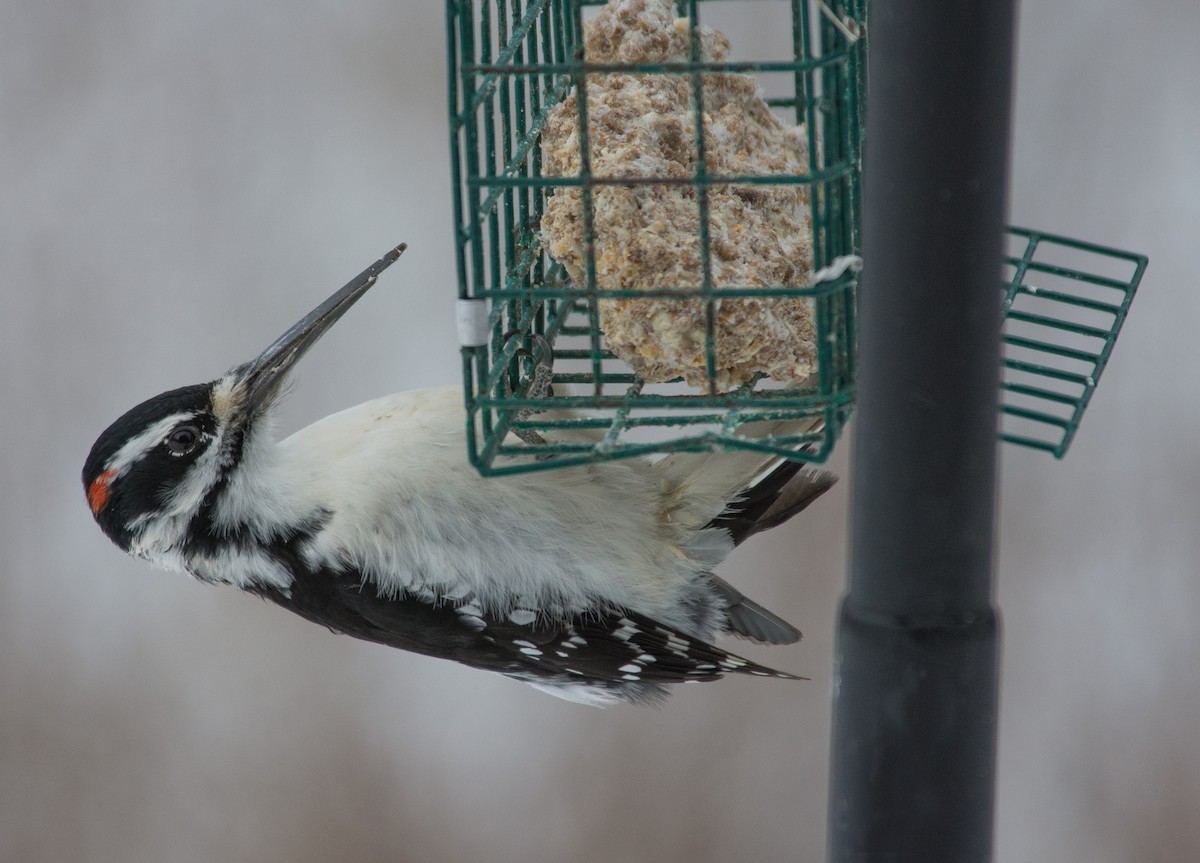
[[[637,609],[664,622],[730,544],[680,508],[643,460],[482,478],[457,386],[332,414],[278,445],[328,466],[305,489],[332,516],[310,563],[361,569],[384,591],[470,595],[488,611]],[[710,508],[710,507],[709,507]]]

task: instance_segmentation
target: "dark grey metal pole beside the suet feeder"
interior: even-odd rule
[[[874,0],[829,858],[991,858],[1013,0]]]

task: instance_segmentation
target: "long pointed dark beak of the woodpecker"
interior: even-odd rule
[[[292,366],[337,323],[338,318],[346,314],[350,306],[358,302],[359,298],[376,283],[379,274],[391,266],[407,247],[401,242],[352,278],[346,287],[300,318],[256,359],[233,370],[232,374],[238,389],[241,390],[239,402],[244,416],[253,416],[271,404]]]

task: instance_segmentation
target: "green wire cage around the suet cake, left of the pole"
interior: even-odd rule
[[[755,4],[786,35],[779,56],[706,59],[700,25],[744,14],[730,0],[688,0],[685,59],[596,64],[583,55],[581,0],[448,0],[451,158],[458,228],[460,341],[468,407],[468,450],[484,473],[506,473],[596,459],[712,447],[754,448],[820,461],[853,404],[853,288],[859,232],[859,91],[862,4]],[[740,7],[740,8],[739,8]],[[734,46],[737,54],[738,47]],[[713,173],[704,146],[704,88],[712,76],[752,74],[770,110],[806,136],[802,172]],[[692,94],[696,149],[689,176],[632,176],[590,169],[592,82],[607,76],[673,76]],[[576,172],[546,170],[542,134],[552,112],[574,100],[578,112]],[[612,286],[596,277],[595,199],[606,187],[684,186],[697,209],[703,277],[698,284]],[[709,198],[737,186],[804,188],[812,233],[811,270],[823,278],[792,284],[721,283],[713,277]],[[577,191],[576,191],[577,190]],[[571,278],[545,248],[541,220],[554,194],[582,199],[582,277]],[[815,372],[800,385],[754,377],[716,385],[714,320],[726,301],[802,296],[815,322]],[[665,299],[704,308],[707,386],[648,383],[607,343],[608,301]],[[540,337],[540,338],[538,338]],[[541,341],[545,340],[545,341]],[[553,346],[550,392],[534,386],[535,362]],[[773,439],[739,437],[758,420],[811,419],[805,431]],[[514,441],[510,432],[520,436]]]

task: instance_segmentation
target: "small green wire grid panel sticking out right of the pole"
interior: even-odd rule
[[[1061,459],[1147,258],[1025,228],[1007,239],[1001,438]]]

